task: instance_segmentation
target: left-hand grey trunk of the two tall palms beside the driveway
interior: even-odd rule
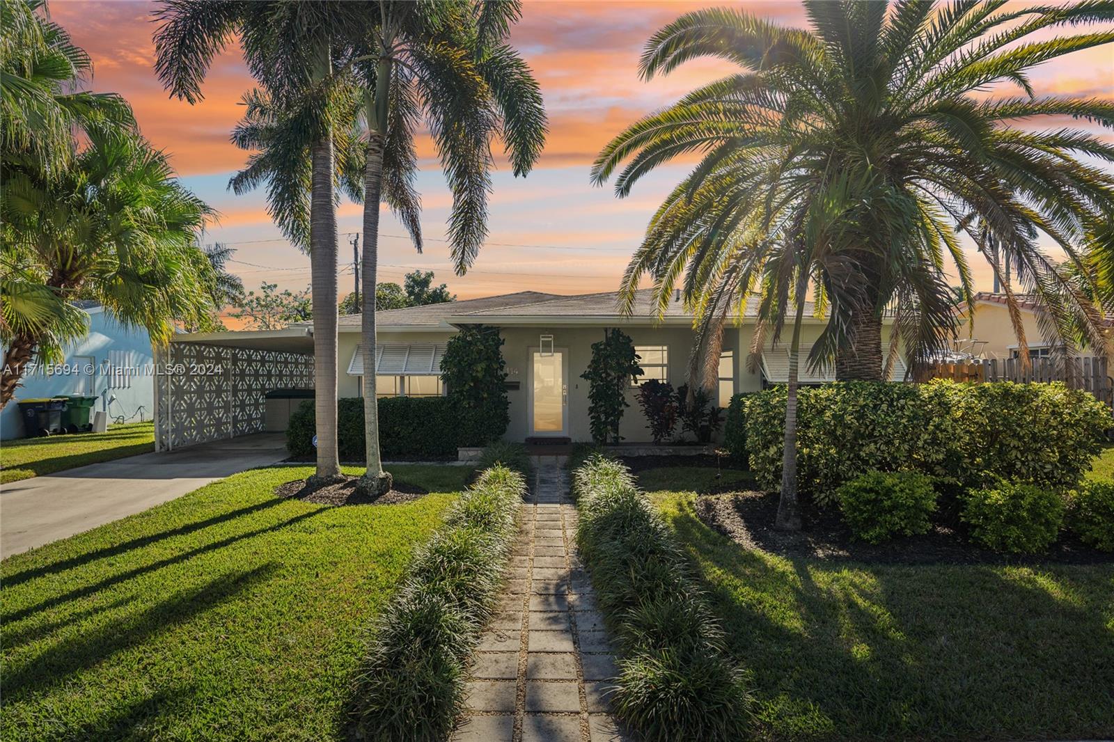
[[[329,74],[323,45],[319,74]],[[322,79],[324,79],[322,77]],[[317,471],[313,484],[342,478],[336,452],[336,211],[333,198],[333,137],[326,128],[311,147],[310,273],[313,302],[313,385]]]

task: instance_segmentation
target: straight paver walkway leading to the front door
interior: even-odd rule
[[[545,459],[543,459],[545,460]],[[507,592],[480,640],[456,742],[610,742],[615,655],[576,556],[576,506],[557,463],[522,505]]]

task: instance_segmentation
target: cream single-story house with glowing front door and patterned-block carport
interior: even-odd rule
[[[682,302],[671,304],[662,319],[653,315],[645,291],[631,316],[619,315],[616,306],[614,292],[563,296],[522,291],[379,312],[377,393],[444,393],[439,373],[446,343],[465,325],[494,325],[504,339],[508,371],[510,427],[506,438],[589,440],[588,382],[580,374],[588,367],[592,343],[603,339],[606,328],[620,328],[634,341],[644,379],[670,381],[674,387],[686,381],[693,316]],[[824,322],[812,316],[811,307],[805,310],[802,353],[808,353]],[[359,397],[363,390],[368,370],[360,349],[360,325],[359,314],[340,318],[338,394],[342,398]],[[735,392],[786,380],[789,353],[784,344],[763,352],[760,368],[747,368],[754,329],[752,307],[740,323],[729,323],[724,330],[717,384],[721,406]],[[883,325],[883,343],[888,333],[889,322]],[[156,382],[160,448],[262,430],[267,391],[312,387],[312,323],[285,330],[175,336],[170,361],[215,364],[221,370],[192,380],[167,375]],[[899,363],[893,378],[903,375]],[[804,383],[831,378],[832,373],[812,373],[802,364]],[[631,442],[645,442],[651,437],[635,391],[633,383],[620,435]]]

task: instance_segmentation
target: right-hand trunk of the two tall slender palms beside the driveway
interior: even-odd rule
[[[373,497],[390,491],[391,475],[383,471],[379,451],[379,400],[375,398],[375,267],[379,260],[379,201],[383,179],[383,139],[387,130],[385,110],[377,101],[389,95],[390,61],[379,64],[375,95],[365,97],[368,117],[368,164],[363,175],[363,311],[361,343],[363,345],[363,424],[368,470],[360,478],[360,488]],[[385,106],[382,106],[385,109]]]

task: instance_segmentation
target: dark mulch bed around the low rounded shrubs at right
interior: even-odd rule
[[[1112,564],[1114,554],[1093,549],[1073,536],[1052,545],[1046,554],[1003,555],[967,540],[958,526],[936,525],[922,536],[885,544],[853,540],[839,511],[804,505],[799,533],[775,530],[775,492],[734,492],[696,499],[696,514],[709,527],[751,549],[788,557],[849,560],[867,564]]]

